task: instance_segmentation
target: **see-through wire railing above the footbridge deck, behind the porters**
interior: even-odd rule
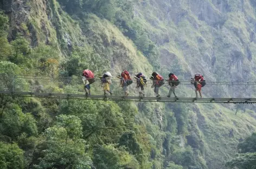
[[[112,79],[110,89],[113,95],[124,95],[123,88],[120,87],[120,79]],[[155,97],[153,81],[148,80],[144,86],[143,93],[146,97]],[[137,81],[132,80],[132,84],[127,86],[129,96],[139,96]],[[170,86],[168,81],[159,87],[159,94],[162,97],[168,95]],[[82,77],[42,77],[0,74],[0,93],[3,92],[28,92],[28,93],[67,93],[84,94],[84,83]],[[195,87],[190,81],[180,81],[180,85],[175,88],[179,98],[195,98]],[[256,82],[208,82],[202,88],[203,98],[253,98],[256,93]],[[92,95],[104,95],[103,87],[99,78],[91,84]],[[199,94],[198,94],[199,96]],[[172,94],[171,97],[174,97]]]

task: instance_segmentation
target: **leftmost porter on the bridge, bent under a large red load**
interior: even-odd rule
[[[91,84],[95,82],[94,74],[91,70],[85,69],[84,72],[82,72],[82,81],[84,82],[84,89],[85,89],[85,95],[86,97],[91,95]]]

